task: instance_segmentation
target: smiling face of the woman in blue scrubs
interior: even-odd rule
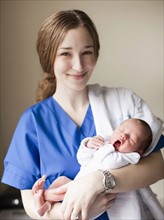
[[[93,40],[89,32],[83,27],[71,29],[59,45],[54,62],[57,88],[84,89],[95,64]]]

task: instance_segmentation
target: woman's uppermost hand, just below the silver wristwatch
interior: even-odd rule
[[[66,219],[77,217],[76,215],[79,215],[79,213],[80,219],[88,219],[88,210],[94,203],[98,191],[103,188],[101,180],[98,186],[92,187],[97,175],[99,175],[99,172],[94,172],[69,184],[61,206],[61,211]],[[102,178],[102,176],[100,177]]]

